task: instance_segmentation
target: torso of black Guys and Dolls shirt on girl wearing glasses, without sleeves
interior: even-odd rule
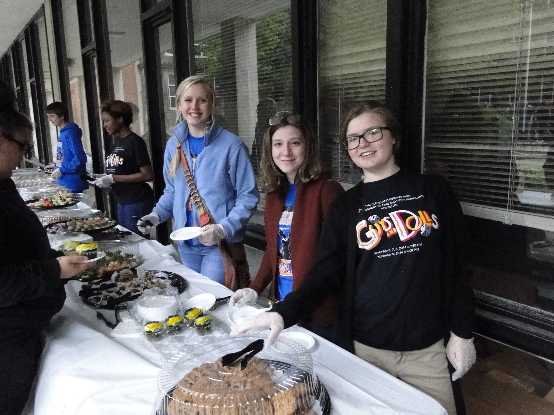
[[[400,170],[362,184],[353,336],[368,346],[413,350],[444,334],[444,218],[423,178]]]

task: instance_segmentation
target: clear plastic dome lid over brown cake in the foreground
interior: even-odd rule
[[[204,338],[184,346],[158,375],[159,415],[304,415],[329,413],[329,396],[312,373],[310,352],[281,338],[250,357],[256,337]],[[256,350],[254,350],[255,352]],[[253,352],[253,353],[254,353]],[[240,357],[227,366],[222,357]],[[244,357],[250,360],[241,367]],[[227,359],[228,360],[228,359]],[[244,366],[244,365],[243,365]]]

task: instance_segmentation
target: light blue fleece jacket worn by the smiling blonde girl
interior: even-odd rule
[[[183,168],[179,164],[177,174],[169,175],[173,154],[177,151],[177,140],[181,143],[192,167],[192,156],[188,146],[188,125],[180,122],[173,128],[175,136],[166,145],[163,160],[163,177],[166,188],[153,211],[165,222],[175,218],[175,229],[187,225],[187,201],[190,195]],[[227,232],[228,242],[240,242],[246,233],[246,224],[256,211],[259,201],[258,186],[254,170],[248,158],[248,149],[240,138],[223,129],[217,123],[206,132],[204,149],[196,158],[194,183],[214,220]],[[194,216],[198,217],[196,211]]]

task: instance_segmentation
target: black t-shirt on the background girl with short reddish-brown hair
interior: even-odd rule
[[[106,158],[107,174],[126,175],[140,173],[141,166],[150,165],[150,157],[144,140],[131,132],[124,138],[114,139],[114,147]],[[111,189],[117,203],[130,205],[153,198],[152,188],[147,183],[114,183]]]

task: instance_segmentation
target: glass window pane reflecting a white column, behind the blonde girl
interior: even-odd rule
[[[258,173],[268,118],[293,107],[290,0],[193,0],[192,12],[196,73],[213,80],[216,119],[248,146]],[[262,195],[260,225],[264,205]]]

